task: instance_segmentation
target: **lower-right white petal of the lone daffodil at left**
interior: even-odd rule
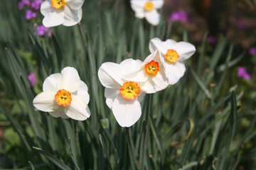
[[[65,107],[65,114],[74,120],[85,120],[90,117],[90,110],[82,99],[73,95],[70,106]]]

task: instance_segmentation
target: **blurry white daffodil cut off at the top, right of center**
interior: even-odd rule
[[[157,26],[160,15],[156,9],[164,5],[164,0],[131,0],[132,9],[137,18],[146,18],[151,25]]]

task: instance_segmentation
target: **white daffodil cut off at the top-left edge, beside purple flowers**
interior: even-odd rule
[[[82,18],[84,0],[46,0],[41,4],[43,26],[74,26]]]

